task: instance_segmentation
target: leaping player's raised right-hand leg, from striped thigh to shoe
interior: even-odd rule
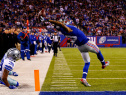
[[[97,54],[97,58],[100,60],[103,69],[104,69],[106,66],[109,65],[109,61],[106,61],[106,62],[105,62],[104,57],[103,57],[103,55],[102,55],[100,49],[98,48],[98,46],[97,46],[94,42],[88,41],[88,42],[85,44],[85,47],[87,47],[87,50],[88,50],[88,51]]]

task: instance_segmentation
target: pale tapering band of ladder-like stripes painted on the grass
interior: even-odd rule
[[[59,52],[58,57],[55,59],[52,82],[50,85],[52,87],[51,89],[59,89],[59,88],[68,89],[68,87],[72,87],[72,86],[76,87],[77,85],[76,85],[75,80],[72,80],[72,79],[71,80],[62,80],[62,79],[58,80],[59,78],[69,78],[69,77],[73,78],[73,74],[71,73],[69,65],[66,62],[64,54],[62,52]]]

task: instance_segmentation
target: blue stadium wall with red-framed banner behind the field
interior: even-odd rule
[[[67,37],[60,34],[61,47],[67,47]],[[99,47],[126,47],[126,43],[122,43],[122,36],[87,36],[90,41],[96,43]]]

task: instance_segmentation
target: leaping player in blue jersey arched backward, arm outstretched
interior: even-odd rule
[[[44,19],[43,17],[41,18],[42,20]],[[84,32],[82,32],[75,26],[64,25],[63,23],[55,20],[49,20],[49,19],[44,20],[49,21],[52,24],[58,25],[62,34],[74,38],[75,44],[78,46],[78,49],[81,52],[82,58],[85,62],[81,82],[85,86],[91,86],[86,80],[88,69],[90,66],[90,56],[88,52],[96,53],[97,58],[100,60],[102,64],[102,69],[104,69],[106,66],[109,65],[109,61],[105,62],[104,57],[98,46],[94,42],[89,41],[89,39],[85,36]]]

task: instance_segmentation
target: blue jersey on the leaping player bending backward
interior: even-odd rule
[[[89,39],[85,36],[85,34],[81,30],[79,30],[78,28],[76,28],[75,26],[72,26],[72,25],[66,25],[66,26],[71,28],[73,31],[70,33],[67,33],[61,27],[60,30],[61,30],[62,34],[64,34],[65,36],[68,36],[70,38],[73,38],[76,45],[81,46],[88,42]]]

